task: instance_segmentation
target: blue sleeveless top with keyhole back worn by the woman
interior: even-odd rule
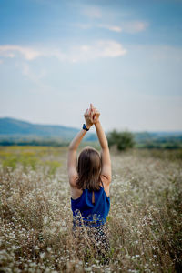
[[[95,204],[92,203],[93,192],[83,189],[83,193],[77,199],[71,197],[74,226],[96,227],[106,223],[106,217],[110,209],[110,197],[106,196],[104,187],[95,191]]]

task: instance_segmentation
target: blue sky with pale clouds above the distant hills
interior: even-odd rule
[[[0,0],[0,117],[179,131],[181,86],[182,0]]]

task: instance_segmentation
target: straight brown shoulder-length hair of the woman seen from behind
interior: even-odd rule
[[[78,157],[77,172],[77,188],[99,190],[101,158],[95,148],[85,147],[82,150]]]

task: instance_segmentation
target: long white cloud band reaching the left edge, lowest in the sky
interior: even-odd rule
[[[0,56],[15,57],[20,54],[26,61],[35,60],[39,56],[56,57],[59,61],[79,62],[101,57],[126,55],[126,49],[113,40],[99,40],[91,45],[76,45],[67,48],[63,53],[59,48],[42,48],[41,50],[19,45],[0,46]]]

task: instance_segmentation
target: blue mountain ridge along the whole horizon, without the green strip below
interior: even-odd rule
[[[80,128],[61,126],[61,125],[44,125],[31,123],[25,120],[0,117],[0,139],[13,140],[58,140],[69,141],[79,132]],[[146,141],[181,141],[182,131],[132,131],[137,143]],[[107,134],[107,132],[106,132]],[[86,134],[84,141],[97,141],[96,133]]]

